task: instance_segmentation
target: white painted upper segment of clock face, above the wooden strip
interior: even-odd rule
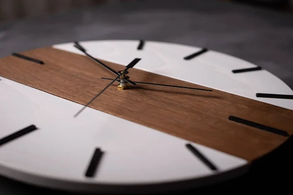
[[[183,58],[201,50],[198,47],[146,41],[143,50],[137,50],[138,40],[102,40],[80,42],[96,58],[127,65],[134,58],[142,60],[134,68],[200,84],[238,96],[270,103],[293,110],[292,99],[257,98],[256,93],[293,95],[292,89],[266,70],[238,73],[234,69],[256,65],[215,51],[196,58]],[[54,48],[84,55],[73,43],[54,45]],[[129,71],[131,76],[131,70]]]

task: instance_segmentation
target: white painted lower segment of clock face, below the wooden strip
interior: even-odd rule
[[[146,184],[217,174],[187,150],[184,139],[91,108],[74,118],[82,105],[0,79],[0,137],[31,124],[39,128],[0,147],[2,173],[11,169],[44,182],[49,178],[84,184]],[[192,144],[219,173],[247,164],[244,159]],[[96,147],[105,155],[97,175],[85,178]]]

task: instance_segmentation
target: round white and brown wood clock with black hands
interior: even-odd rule
[[[244,174],[293,132],[293,91],[270,72],[144,40],[2,58],[0,108],[0,174],[68,191],[208,185]]]

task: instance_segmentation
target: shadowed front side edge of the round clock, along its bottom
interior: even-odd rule
[[[146,183],[146,184],[106,184],[106,183],[89,183],[75,182],[70,180],[62,180],[60,178],[49,178],[46,176],[38,176],[32,173],[25,173],[21,170],[13,170],[11,168],[0,165],[1,176],[18,182],[25,183],[36,187],[61,190],[67,192],[96,192],[96,193],[138,193],[141,191],[148,193],[159,193],[174,190],[188,190],[191,188],[205,187],[208,185],[224,182],[237,176],[243,176],[248,173],[251,163],[244,164],[226,172],[212,174],[209,176],[181,179],[177,181]]]

